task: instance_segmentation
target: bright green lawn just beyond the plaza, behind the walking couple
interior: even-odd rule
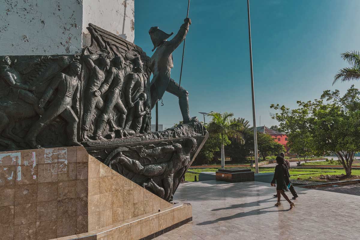
[[[189,169],[189,171],[196,172],[196,173],[190,173],[190,172],[185,173],[185,181],[193,182],[195,175],[196,175],[197,180],[199,180],[199,173],[200,172],[216,172],[217,169],[218,168]],[[255,169],[252,168],[252,171],[255,171]],[[334,172],[327,172],[327,171],[334,171]],[[260,173],[274,172],[274,168],[273,167],[259,168],[259,172]],[[309,173],[309,174],[299,175],[299,174],[303,174],[303,173]],[[316,169],[316,168],[311,168],[311,169],[290,169],[290,175],[293,175],[290,178],[291,179],[297,179],[299,177],[302,180],[324,181],[324,180],[318,179],[318,177],[320,177],[321,174],[324,174],[324,175],[341,175],[342,173],[345,174],[345,170],[343,170],[343,169],[320,169],[320,168],[319,169]],[[352,169],[352,175],[360,176],[360,169]],[[312,179],[309,179],[310,176],[312,177]]]

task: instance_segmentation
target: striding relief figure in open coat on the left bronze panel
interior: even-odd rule
[[[42,148],[36,143],[36,136],[58,116],[61,116],[67,122],[68,145],[81,146],[77,141],[77,116],[79,115],[80,95],[80,81],[77,76],[80,73],[80,63],[72,62],[68,66],[67,73],[58,73],[49,84],[48,89],[39,101],[39,107],[43,108],[54,91],[57,90],[55,99],[40,119],[31,126],[25,137],[26,142],[33,148]]]

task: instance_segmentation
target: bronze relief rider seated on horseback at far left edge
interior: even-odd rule
[[[31,104],[37,114],[42,115],[44,113],[44,109],[39,108],[39,99],[31,93],[31,91],[35,91],[35,87],[28,86],[21,82],[20,74],[11,67],[12,63],[9,56],[3,56],[0,64],[0,77],[8,86],[0,89],[0,98],[6,98],[6,96],[8,96],[10,99],[15,98],[15,101],[17,98],[20,98],[26,103]]]

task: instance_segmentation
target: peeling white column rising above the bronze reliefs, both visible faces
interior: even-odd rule
[[[81,53],[87,24],[134,41],[134,0],[0,0],[0,55]]]

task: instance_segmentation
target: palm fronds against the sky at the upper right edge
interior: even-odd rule
[[[350,64],[350,67],[342,68],[334,77],[333,85],[338,80],[341,82],[354,81],[360,79],[360,52],[350,51],[341,54],[341,58]]]

